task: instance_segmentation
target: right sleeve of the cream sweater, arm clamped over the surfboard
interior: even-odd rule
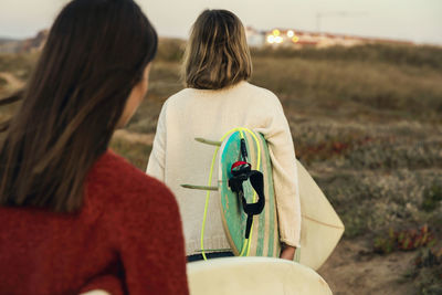
[[[292,133],[280,99],[271,94],[262,133],[267,141],[273,166],[273,183],[280,225],[280,239],[287,245],[301,247],[301,202],[296,156]]]

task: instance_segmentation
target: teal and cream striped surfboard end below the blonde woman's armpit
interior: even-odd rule
[[[221,202],[221,217],[224,232],[232,246],[233,253],[243,256],[277,257],[281,251],[280,235],[277,231],[277,215],[275,194],[273,189],[272,164],[269,148],[263,136],[254,133],[254,137],[243,131],[248,148],[248,160],[253,170],[260,170],[264,175],[265,207],[261,214],[253,218],[253,228],[250,236],[250,246],[244,244],[244,232],[248,215],[242,210],[238,196],[229,188],[232,164],[239,160],[241,134],[235,131],[230,135],[220,148],[219,157],[219,191]],[[260,154],[260,158],[259,158]],[[244,197],[248,203],[255,202],[254,190],[250,181],[243,183]],[[257,197],[255,197],[257,198]],[[245,249],[243,249],[245,247]]]

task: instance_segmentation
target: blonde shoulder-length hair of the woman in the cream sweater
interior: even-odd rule
[[[252,61],[240,19],[227,10],[204,10],[193,23],[182,72],[185,85],[199,89],[249,80]]]

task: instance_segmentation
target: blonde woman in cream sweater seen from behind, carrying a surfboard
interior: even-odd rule
[[[165,181],[176,194],[188,261],[201,259],[206,193],[180,185],[206,183],[213,156],[212,149],[193,138],[221,138],[235,127],[259,131],[269,144],[283,245],[281,257],[292,260],[299,246],[299,193],[291,130],[278,98],[250,84],[251,75],[250,51],[239,18],[227,10],[203,11],[192,27],[186,50],[187,88],[164,104],[147,166],[147,173]],[[204,251],[212,252],[212,256],[232,255],[217,197],[209,202]]]

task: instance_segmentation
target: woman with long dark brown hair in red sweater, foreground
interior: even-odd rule
[[[188,294],[173,196],[109,151],[157,33],[133,0],[57,15],[0,144],[0,293]]]

